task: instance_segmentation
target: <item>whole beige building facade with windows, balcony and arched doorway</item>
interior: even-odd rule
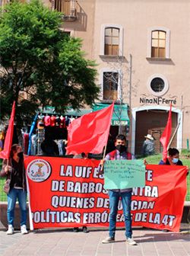
[[[128,105],[131,152],[160,136],[172,104],[171,146],[190,139],[190,2],[188,0],[43,0],[62,12],[61,29],[81,37],[98,66],[99,103]]]

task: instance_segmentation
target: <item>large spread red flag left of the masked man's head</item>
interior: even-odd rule
[[[67,154],[100,154],[106,146],[114,103],[102,110],[85,114],[68,126]]]

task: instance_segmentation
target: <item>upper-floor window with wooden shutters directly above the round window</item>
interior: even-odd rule
[[[152,31],[152,58],[166,58],[166,32],[161,30]]]

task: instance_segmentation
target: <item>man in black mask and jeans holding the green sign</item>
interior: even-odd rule
[[[115,142],[116,150],[110,152],[106,155],[103,160],[131,160],[132,155],[127,152],[126,148],[126,137],[119,134],[116,137]],[[102,162],[102,164],[103,164]],[[106,170],[105,170],[106,171]],[[103,239],[103,244],[115,242],[116,233],[116,216],[118,213],[119,198],[122,199],[123,214],[125,217],[125,236],[129,245],[137,245],[137,243],[132,238],[131,229],[131,188],[123,189],[110,189],[109,194],[109,237]]]

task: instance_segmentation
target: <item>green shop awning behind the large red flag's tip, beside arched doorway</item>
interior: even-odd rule
[[[109,104],[96,103],[93,105],[93,111],[101,110],[104,107],[109,107]],[[129,126],[130,120],[128,118],[128,105],[114,105],[114,111],[112,114],[112,126]]]

